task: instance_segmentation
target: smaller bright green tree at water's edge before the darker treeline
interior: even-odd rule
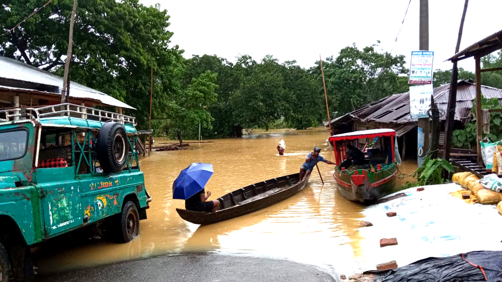
[[[214,119],[206,110],[217,100],[214,93],[218,87],[215,82],[217,74],[206,71],[182,91],[181,95],[171,97],[168,123],[165,130],[175,135],[182,144],[183,132],[194,131],[199,124],[202,128],[211,129]]]

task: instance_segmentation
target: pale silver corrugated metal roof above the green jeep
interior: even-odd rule
[[[45,93],[56,94],[56,95],[61,95],[60,87],[63,86],[62,77],[35,68],[33,66],[27,65],[21,61],[2,56],[0,56],[0,78],[57,87],[59,89],[59,92],[45,91]],[[37,91],[36,89],[30,89],[24,87],[23,88],[8,87],[2,85],[0,85],[0,88]],[[44,93],[44,91],[39,91],[39,90],[38,92]],[[134,107],[131,107],[128,104],[123,103],[105,93],[89,88],[87,86],[83,86],[73,81],[70,83],[70,97],[77,99],[95,100],[99,101],[104,105],[109,105],[114,107],[135,109]]]

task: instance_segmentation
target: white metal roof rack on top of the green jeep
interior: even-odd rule
[[[96,121],[114,121],[120,124],[133,124],[136,126],[136,118],[108,111],[98,110],[85,106],[79,106],[70,103],[31,107],[31,108],[13,108],[0,111],[0,122],[10,122],[33,118],[40,122],[42,118],[68,116],[81,119],[91,119]]]

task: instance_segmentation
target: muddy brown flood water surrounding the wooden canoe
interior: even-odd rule
[[[245,138],[192,143],[188,150],[153,152],[143,158],[141,168],[154,200],[147,211],[148,219],[141,221],[140,236],[126,244],[88,239],[60,246],[42,245],[34,252],[37,272],[201,251],[288,259],[319,266],[332,274],[359,270],[364,250],[356,228],[363,218],[363,206],[340,195],[332,178],[334,166],[322,162],[319,169],[324,185],[314,169],[303,191],[263,210],[207,226],[178,216],[176,208],[184,208],[184,201],[173,200],[171,185],[192,162],[213,164],[214,174],[206,190],[212,192],[210,199],[216,199],[248,184],[298,172],[314,146],[321,147],[321,155],[334,161],[324,128],[254,133]],[[286,142],[284,156],[276,150],[281,139]],[[416,163],[404,163],[401,171],[415,168]],[[399,181],[397,186],[404,182]]]

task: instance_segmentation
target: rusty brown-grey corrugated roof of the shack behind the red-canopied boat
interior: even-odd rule
[[[449,89],[449,84],[434,88],[434,101],[442,113],[440,120],[445,120],[445,113],[448,108]],[[502,105],[502,89],[481,86],[481,94],[486,98],[497,98],[499,103]],[[466,122],[468,120],[469,112],[472,108],[475,97],[476,85],[472,83],[471,80],[461,80],[458,82],[455,120],[462,122]],[[391,95],[379,101],[373,102],[344,116],[331,120],[331,124],[336,127],[337,124],[346,122],[348,117],[363,123],[375,122],[389,124],[389,127],[392,128],[394,128],[392,125],[407,125],[415,123],[410,117],[409,92]],[[407,128],[403,128],[403,130],[406,129]],[[399,132],[399,128],[396,131],[398,132],[398,135],[401,133]]]

